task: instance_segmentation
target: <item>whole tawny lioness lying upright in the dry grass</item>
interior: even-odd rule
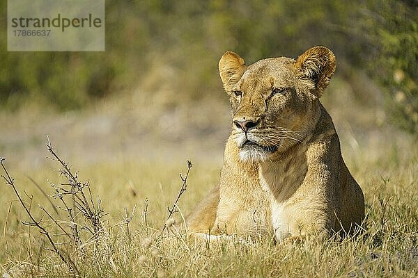
[[[325,47],[249,66],[234,52],[222,56],[232,131],[219,186],[189,215],[191,231],[252,237],[270,230],[281,241],[353,233],[362,223],[362,189],[319,101],[335,67]]]

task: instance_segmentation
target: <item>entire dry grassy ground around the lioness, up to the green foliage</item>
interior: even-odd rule
[[[337,87],[341,88],[338,81],[330,90],[339,92]],[[24,199],[28,201],[27,196],[33,195],[33,201],[26,204],[36,219],[44,215],[42,221],[47,229],[57,233],[54,223],[37,204],[52,213],[54,209],[33,181],[49,195],[50,182],[65,181],[56,171],[54,161],[44,158],[47,133],[52,135],[61,158],[73,163],[72,170],[79,170],[79,179],[90,182],[93,197],[99,195],[104,210],[109,212],[102,218],[104,228],[100,236],[86,238],[84,254],[65,244],[57,245],[75,261],[80,276],[417,276],[416,138],[382,124],[385,117],[377,117],[381,115],[377,106],[367,108],[354,101],[355,106],[347,107],[344,104],[353,100],[340,94],[325,99],[341,137],[346,163],[364,190],[369,216],[363,236],[325,242],[309,238],[293,245],[273,245],[266,238],[256,245],[208,246],[190,242],[172,227],[171,240],[159,238],[157,231],[167,220],[167,206],[171,207],[178,195],[183,183],[178,173],[187,170],[187,159],[192,160],[194,167],[187,179],[187,191],[178,202],[184,214],[217,183],[229,126],[227,105],[217,104],[213,109],[218,116],[205,124],[210,107],[215,106],[210,101],[205,107],[176,108],[155,99],[146,100],[157,107],[153,111],[150,105],[136,102],[135,94],[126,98],[115,104],[100,104],[81,115],[48,117],[33,112],[29,118],[1,117],[5,126],[0,138],[1,155],[8,158],[6,166]],[[135,111],[133,107],[137,105],[144,107],[145,112]],[[146,115],[142,117],[142,113]],[[199,117],[193,118],[194,113]],[[157,120],[151,115],[157,115]],[[146,129],[153,121],[157,127]],[[219,124],[214,126],[213,122]],[[177,125],[181,126],[177,129]],[[45,236],[36,227],[22,225],[28,216],[16,202],[13,190],[6,184],[0,186],[1,271],[13,277],[68,277],[67,265],[47,250],[51,246]],[[59,243],[59,236],[54,240]]]

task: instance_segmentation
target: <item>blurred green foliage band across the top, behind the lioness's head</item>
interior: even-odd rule
[[[88,107],[141,88],[171,92],[170,105],[224,98],[217,62],[226,50],[247,64],[296,58],[324,45],[336,75],[368,100],[366,74],[385,95],[392,121],[418,132],[418,1],[106,1],[106,51],[6,51],[6,1],[0,2],[0,107],[25,101],[61,111]]]

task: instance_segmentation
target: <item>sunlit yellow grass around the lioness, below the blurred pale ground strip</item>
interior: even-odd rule
[[[80,179],[89,179],[93,196],[99,195],[105,231],[96,241],[86,243],[86,254],[71,256],[82,277],[416,277],[418,271],[418,189],[417,149],[414,144],[403,153],[382,152],[378,165],[353,165],[353,175],[366,197],[366,232],[358,238],[325,243],[309,238],[302,243],[275,244],[265,239],[255,245],[221,243],[206,245],[187,240],[180,232],[171,240],[155,238],[167,218],[167,206],[176,199],[187,170],[184,161],[152,160],[103,161],[81,167]],[[10,159],[11,160],[11,159]],[[5,161],[6,166],[8,161]],[[13,165],[13,163],[10,163]],[[219,167],[212,162],[194,163],[187,190],[178,204],[183,214],[191,211],[207,190],[217,182]],[[22,174],[8,170],[24,195],[33,195],[32,211],[40,217],[37,204],[52,207],[31,177],[51,192],[47,180],[59,182],[58,165]],[[40,247],[50,248],[16,202],[13,190],[1,184],[1,268],[14,277],[66,277],[68,268],[59,257]],[[28,198],[25,197],[27,200]],[[145,200],[148,199],[144,222]],[[128,236],[123,222],[124,208],[137,205]],[[180,214],[180,213],[178,213]],[[61,213],[65,218],[65,213]],[[44,218],[45,219],[45,218]],[[46,223],[48,220],[44,220]],[[49,224],[50,221],[49,221]],[[52,224],[51,224],[52,227]],[[172,231],[173,233],[173,231]],[[175,231],[174,231],[175,233]],[[144,239],[153,239],[150,246]],[[65,246],[60,246],[65,250]]]

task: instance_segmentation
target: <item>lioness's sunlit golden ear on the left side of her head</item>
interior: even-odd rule
[[[238,54],[226,51],[219,60],[219,75],[226,92],[230,92],[245,72],[245,61]]]

